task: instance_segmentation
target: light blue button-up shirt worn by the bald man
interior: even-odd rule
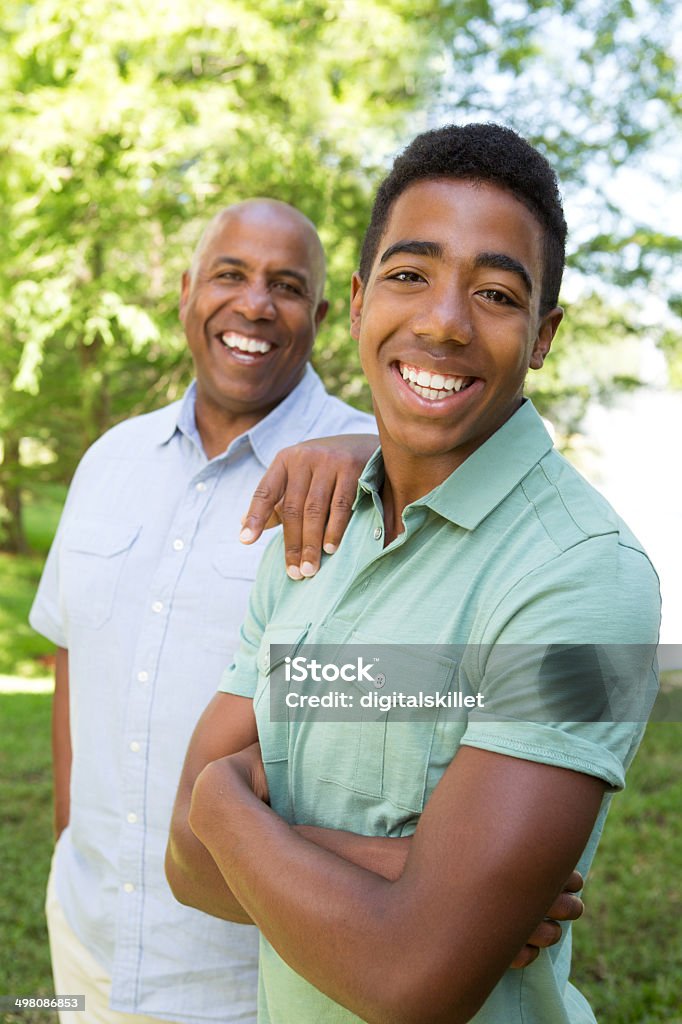
[[[263,545],[238,541],[280,449],[374,421],[296,389],[219,457],[181,401],[119,424],[85,455],[32,612],[69,649],[71,820],[55,882],[112,1006],[182,1022],[255,1016],[257,935],[181,906],[164,876],[171,809],[197,719],[238,645]],[[284,566],[283,566],[284,571]]]

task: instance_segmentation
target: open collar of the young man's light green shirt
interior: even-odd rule
[[[465,529],[475,529],[552,446],[540,414],[526,398],[459,469],[413,506],[425,505]],[[363,494],[378,495],[383,479],[384,464],[379,449],[358,480],[353,508]]]

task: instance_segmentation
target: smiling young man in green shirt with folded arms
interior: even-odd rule
[[[561,319],[564,239],[551,168],[499,126],[419,136],[379,189],[351,332],[381,451],[313,580],[266,554],[167,858],[179,898],[258,925],[262,1022],[594,1020],[568,935],[506,970],[588,869],[641,736],[594,694],[655,676],[655,573],[522,395]],[[304,644],[385,645],[391,671],[476,707],[272,714]]]

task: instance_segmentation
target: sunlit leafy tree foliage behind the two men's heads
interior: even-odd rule
[[[664,124],[654,114],[665,113],[664,130],[679,119],[674,16],[666,0],[8,0],[6,543],[20,546],[20,493],[35,476],[18,458],[23,437],[51,451],[44,472],[66,479],[111,423],[181,393],[189,367],[179,275],[199,224],[218,207],[270,195],[317,223],[332,308],[316,365],[333,390],[367,404],[346,328],[348,280],[374,182],[400,139],[493,115],[542,139],[578,194],[604,154],[606,167],[644,160]],[[639,25],[648,26],[641,41]],[[546,41],[563,30],[574,39],[573,68]],[[623,81],[603,78],[604,67],[625,69]],[[566,110],[570,131],[560,127]],[[599,230],[581,237],[573,265],[588,280],[608,272],[651,287],[654,256],[672,260],[679,242],[607,223],[614,208],[600,209]],[[673,327],[671,350],[675,336]]]

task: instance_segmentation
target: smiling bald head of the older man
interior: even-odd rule
[[[254,201],[216,219],[180,298],[203,409],[264,416],[299,382],[327,311],[319,253],[282,205]]]

